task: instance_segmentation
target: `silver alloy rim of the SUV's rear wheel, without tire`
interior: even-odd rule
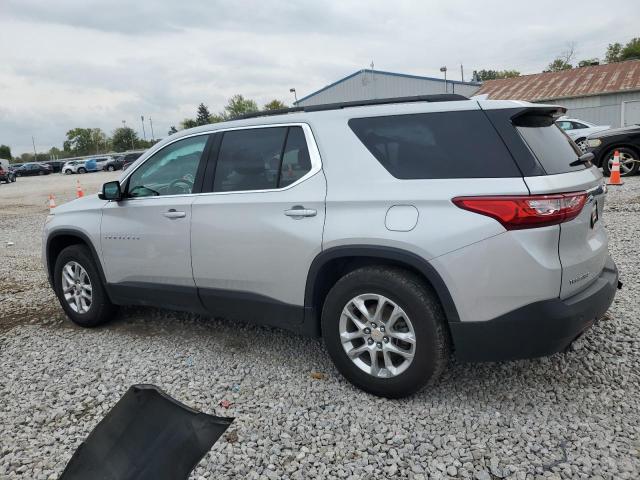
[[[413,361],[416,335],[411,320],[383,295],[366,293],[349,300],[338,329],[349,359],[369,375],[395,377]]]

